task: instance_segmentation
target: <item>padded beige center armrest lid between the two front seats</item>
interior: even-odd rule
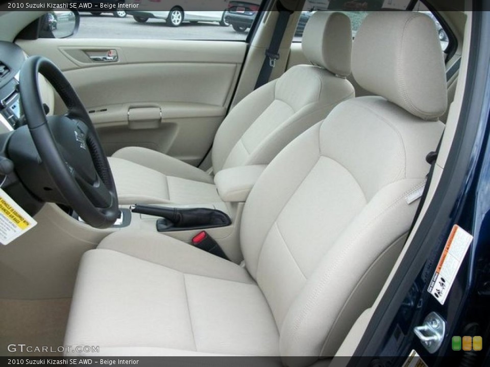
[[[214,176],[214,184],[223,201],[244,202],[267,165],[227,168]]]

